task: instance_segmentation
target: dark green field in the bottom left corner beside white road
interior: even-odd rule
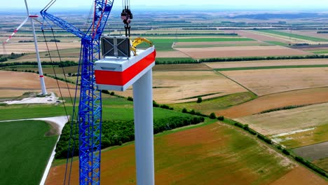
[[[4,122],[0,130],[0,184],[39,184],[58,136],[45,136],[43,121]]]

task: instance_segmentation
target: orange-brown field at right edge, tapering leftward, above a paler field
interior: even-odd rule
[[[275,93],[258,97],[250,102],[238,104],[228,109],[215,111],[219,115],[229,118],[240,118],[259,114],[261,111],[303,104],[320,104],[328,102],[328,88],[313,88],[304,90],[293,90],[284,93]]]

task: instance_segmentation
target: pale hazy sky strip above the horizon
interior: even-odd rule
[[[21,3],[20,3],[21,2]],[[31,8],[42,9],[43,6],[48,4],[49,0],[27,0],[27,3]],[[76,7],[84,6],[90,7],[93,0],[57,0],[53,7]],[[328,11],[328,0],[207,0],[207,1],[195,1],[195,0],[130,0],[131,6],[179,6],[179,5],[189,5],[189,6],[200,6],[200,5],[214,5],[217,8],[224,7],[236,7],[236,8],[327,8]],[[122,1],[115,0],[114,7],[121,8]],[[6,1],[1,0],[0,8],[24,8],[24,0]],[[213,6],[212,6],[213,7]],[[133,8],[133,7],[132,7]]]

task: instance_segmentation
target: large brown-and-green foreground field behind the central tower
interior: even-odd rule
[[[297,166],[250,135],[221,123],[156,135],[154,143],[156,184],[271,184]],[[78,181],[77,162],[73,183]],[[53,167],[46,184],[60,184],[63,170],[64,165]],[[311,172],[303,174],[325,184]],[[299,180],[303,177],[294,179]],[[101,182],[135,184],[134,144],[102,152]]]

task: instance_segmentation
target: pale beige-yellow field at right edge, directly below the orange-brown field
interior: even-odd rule
[[[263,135],[303,130],[328,123],[328,103],[236,118]]]

